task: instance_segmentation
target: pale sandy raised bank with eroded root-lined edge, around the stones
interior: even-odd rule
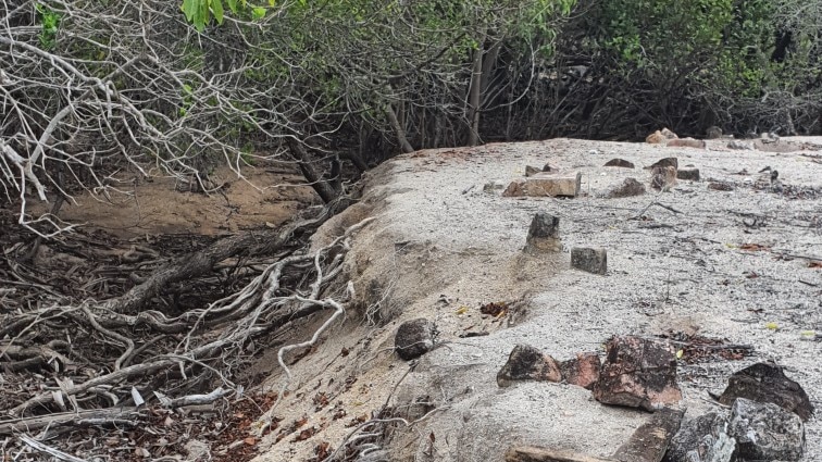
[[[400,461],[497,461],[518,442],[608,455],[647,420],[570,385],[500,389],[496,374],[518,344],[564,360],[601,353],[612,335],[698,333],[755,353],[683,362],[687,417],[719,408],[708,391],[721,392],[731,373],[761,360],[784,365],[820,408],[822,344],[808,336],[822,334],[822,269],[811,265],[822,259],[822,139],[801,141],[804,150],[777,153],[733,151],[719,140],[690,149],[556,139],[422,151],[382,165],[369,175],[365,199],[315,237],[320,244],[376,217],[347,258],[358,303],[310,354],[291,361],[289,395],[273,410],[279,427],[257,460],[309,460],[385,403],[409,419],[421,415],[412,401],[436,410],[378,442]],[[602,167],[614,157],[636,168]],[[667,157],[694,164],[702,179],[662,193],[602,197],[630,176],[647,186],[643,167]],[[516,199],[483,191],[545,163],[581,172],[584,193]],[[763,186],[768,173],[758,172],[765,166],[779,170],[783,193]],[[714,180],[734,190],[709,189]],[[655,201],[664,207],[649,207]],[[560,217],[562,252],[522,252],[537,211]],[[577,246],[608,249],[608,274],[571,270],[569,251]],[[521,308],[500,320],[478,312],[482,303],[516,300]],[[384,324],[371,327],[376,314]],[[416,317],[438,324],[441,345],[411,370],[391,347],[399,323]],[[321,322],[295,338],[310,337]],[[461,338],[469,332],[488,335]],[[266,387],[278,389],[274,357],[260,367],[272,373]],[[805,460],[822,460],[822,422],[811,420],[806,433]]]

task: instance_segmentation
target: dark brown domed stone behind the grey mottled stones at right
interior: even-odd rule
[[[746,398],[759,402],[772,402],[802,421],[813,415],[813,404],[802,387],[785,376],[773,363],[757,363],[734,373],[719,401],[731,405],[735,399]]]

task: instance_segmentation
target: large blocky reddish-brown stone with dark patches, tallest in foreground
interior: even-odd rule
[[[594,386],[594,398],[606,404],[648,411],[676,404],[676,352],[670,344],[639,337],[612,337]]]

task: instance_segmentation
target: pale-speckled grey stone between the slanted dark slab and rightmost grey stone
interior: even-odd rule
[[[727,434],[727,416],[709,412],[685,422],[662,462],[730,462],[736,439]]]

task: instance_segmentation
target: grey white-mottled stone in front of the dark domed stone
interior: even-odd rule
[[[736,457],[742,460],[798,461],[805,452],[802,420],[770,402],[737,398],[728,434],[736,439]]]

